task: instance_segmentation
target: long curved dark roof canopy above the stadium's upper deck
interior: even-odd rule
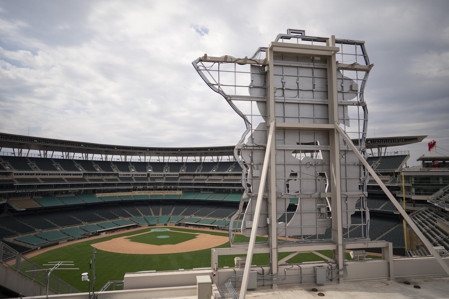
[[[393,147],[423,141],[427,136],[367,138],[367,148]],[[358,145],[358,139],[352,139]],[[0,147],[25,150],[76,152],[117,156],[233,156],[234,146],[222,147],[136,147],[87,143],[62,139],[0,133]]]

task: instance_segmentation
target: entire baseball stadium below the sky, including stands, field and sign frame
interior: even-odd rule
[[[367,138],[364,42],[289,29],[192,64],[237,145],[0,133],[1,298],[444,298],[449,157],[410,168],[427,136]]]

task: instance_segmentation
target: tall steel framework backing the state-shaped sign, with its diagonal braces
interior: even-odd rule
[[[234,150],[242,165],[245,193],[231,223],[242,219],[249,244],[233,242],[230,228],[234,254],[247,250],[240,298],[246,295],[255,251],[270,253],[270,275],[277,275],[278,252],[304,251],[307,241],[308,249],[311,243],[314,248],[332,249],[337,275],[343,273],[345,246],[369,242],[365,202],[369,174],[411,222],[365,161],[368,111],[363,92],[373,65],[363,41],[287,30],[251,58],[205,54],[193,65],[247,126]],[[289,208],[291,200],[298,203],[294,211]],[[359,200],[361,208],[356,209]],[[357,223],[351,222],[354,213]],[[331,238],[323,237],[329,226]],[[416,225],[411,226],[425,239]],[[256,243],[256,234],[268,235],[268,242]],[[297,240],[289,241],[291,236]],[[383,248],[392,258],[391,246]],[[212,266],[215,258],[213,252]]]

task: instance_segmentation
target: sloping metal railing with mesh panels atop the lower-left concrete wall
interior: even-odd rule
[[[35,262],[27,259],[20,252],[14,250],[3,242],[0,242],[0,262],[13,269],[17,273],[28,277],[33,282],[46,287],[46,271],[35,271],[44,269]],[[55,294],[72,294],[79,293],[79,290],[70,286],[52,273],[48,278],[48,289]]]

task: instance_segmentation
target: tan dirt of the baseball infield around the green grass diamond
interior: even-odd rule
[[[211,234],[202,234],[201,230],[195,233],[188,233],[183,231],[174,230],[177,233],[184,234],[198,234],[194,239],[181,242],[178,244],[170,245],[152,245],[145,243],[132,242],[128,238],[141,234],[151,234],[151,232],[145,232],[141,234],[135,234],[132,236],[123,236],[114,238],[108,241],[91,244],[92,247],[103,251],[110,251],[116,253],[128,253],[128,254],[165,254],[165,253],[180,253],[197,251],[202,249],[208,249],[220,246],[229,241],[228,237],[215,236]]]

